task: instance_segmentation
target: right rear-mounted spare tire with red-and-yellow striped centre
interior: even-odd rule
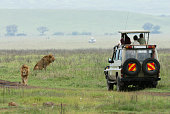
[[[160,70],[160,64],[156,59],[148,58],[143,61],[142,70],[146,75],[157,75]]]

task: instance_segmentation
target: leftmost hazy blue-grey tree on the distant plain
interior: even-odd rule
[[[15,36],[15,33],[18,31],[17,25],[8,25],[6,26],[7,36]]]

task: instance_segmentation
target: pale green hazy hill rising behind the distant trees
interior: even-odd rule
[[[38,35],[39,26],[46,26],[49,29],[48,35],[55,32],[92,32],[103,35],[117,33],[122,29],[142,29],[146,22],[159,25],[162,33],[170,30],[168,16],[124,11],[1,9],[0,17],[0,35],[4,35],[6,26],[11,24],[18,26],[18,33],[29,35]]]

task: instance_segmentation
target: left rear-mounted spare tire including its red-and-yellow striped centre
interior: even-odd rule
[[[135,76],[141,71],[141,64],[137,59],[129,58],[124,62],[122,70],[124,74]]]

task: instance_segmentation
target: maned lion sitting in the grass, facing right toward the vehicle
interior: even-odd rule
[[[46,70],[46,67],[55,61],[55,58],[52,54],[44,56],[37,64],[34,66],[34,70],[42,70],[43,68]]]

